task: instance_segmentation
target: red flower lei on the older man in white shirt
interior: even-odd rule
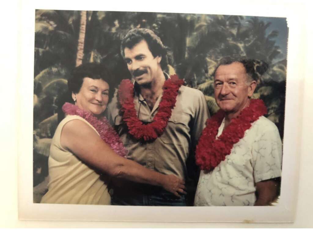
[[[261,99],[251,99],[249,106],[244,108],[237,118],[232,119],[216,139],[218,128],[225,117],[225,112],[219,110],[207,120],[207,126],[202,131],[196,148],[196,164],[202,170],[214,169],[225,160],[226,155],[230,154],[233,144],[244,137],[244,132],[251,127],[251,124],[266,113],[267,108]]]

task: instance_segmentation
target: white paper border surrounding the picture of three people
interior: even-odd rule
[[[197,4],[198,3],[198,4]],[[291,1],[170,1],[115,3],[20,1],[18,77],[18,218],[20,220],[135,222],[292,222],[295,216],[305,70],[304,5]],[[276,206],[141,207],[33,203],[33,57],[35,9],[204,13],[287,18],[289,28],[281,195]],[[301,46],[302,45],[302,46]]]

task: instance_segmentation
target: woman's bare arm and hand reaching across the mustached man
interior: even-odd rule
[[[174,175],[164,175],[117,155],[85,122],[74,119],[62,129],[61,146],[71,150],[81,160],[104,173],[131,181],[162,186],[176,196],[185,194],[184,181]]]

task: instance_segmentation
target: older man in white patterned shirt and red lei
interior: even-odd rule
[[[263,115],[254,64],[224,58],[215,69],[214,96],[220,111],[207,122],[196,149],[201,167],[196,206],[269,205],[281,176],[282,144],[277,127]]]

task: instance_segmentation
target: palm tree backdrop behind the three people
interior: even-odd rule
[[[115,78],[131,78],[120,54],[131,28],[153,30],[169,48],[167,72],[201,90],[211,113],[213,71],[219,59],[242,55],[254,59],[258,86],[253,98],[268,107],[283,139],[288,28],[285,18],[234,15],[36,10],[33,104],[34,202],[47,190],[51,139],[58,125],[67,79],[84,62],[105,63]]]

